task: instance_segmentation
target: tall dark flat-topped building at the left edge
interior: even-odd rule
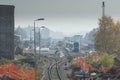
[[[14,59],[14,6],[0,5],[0,57]]]

